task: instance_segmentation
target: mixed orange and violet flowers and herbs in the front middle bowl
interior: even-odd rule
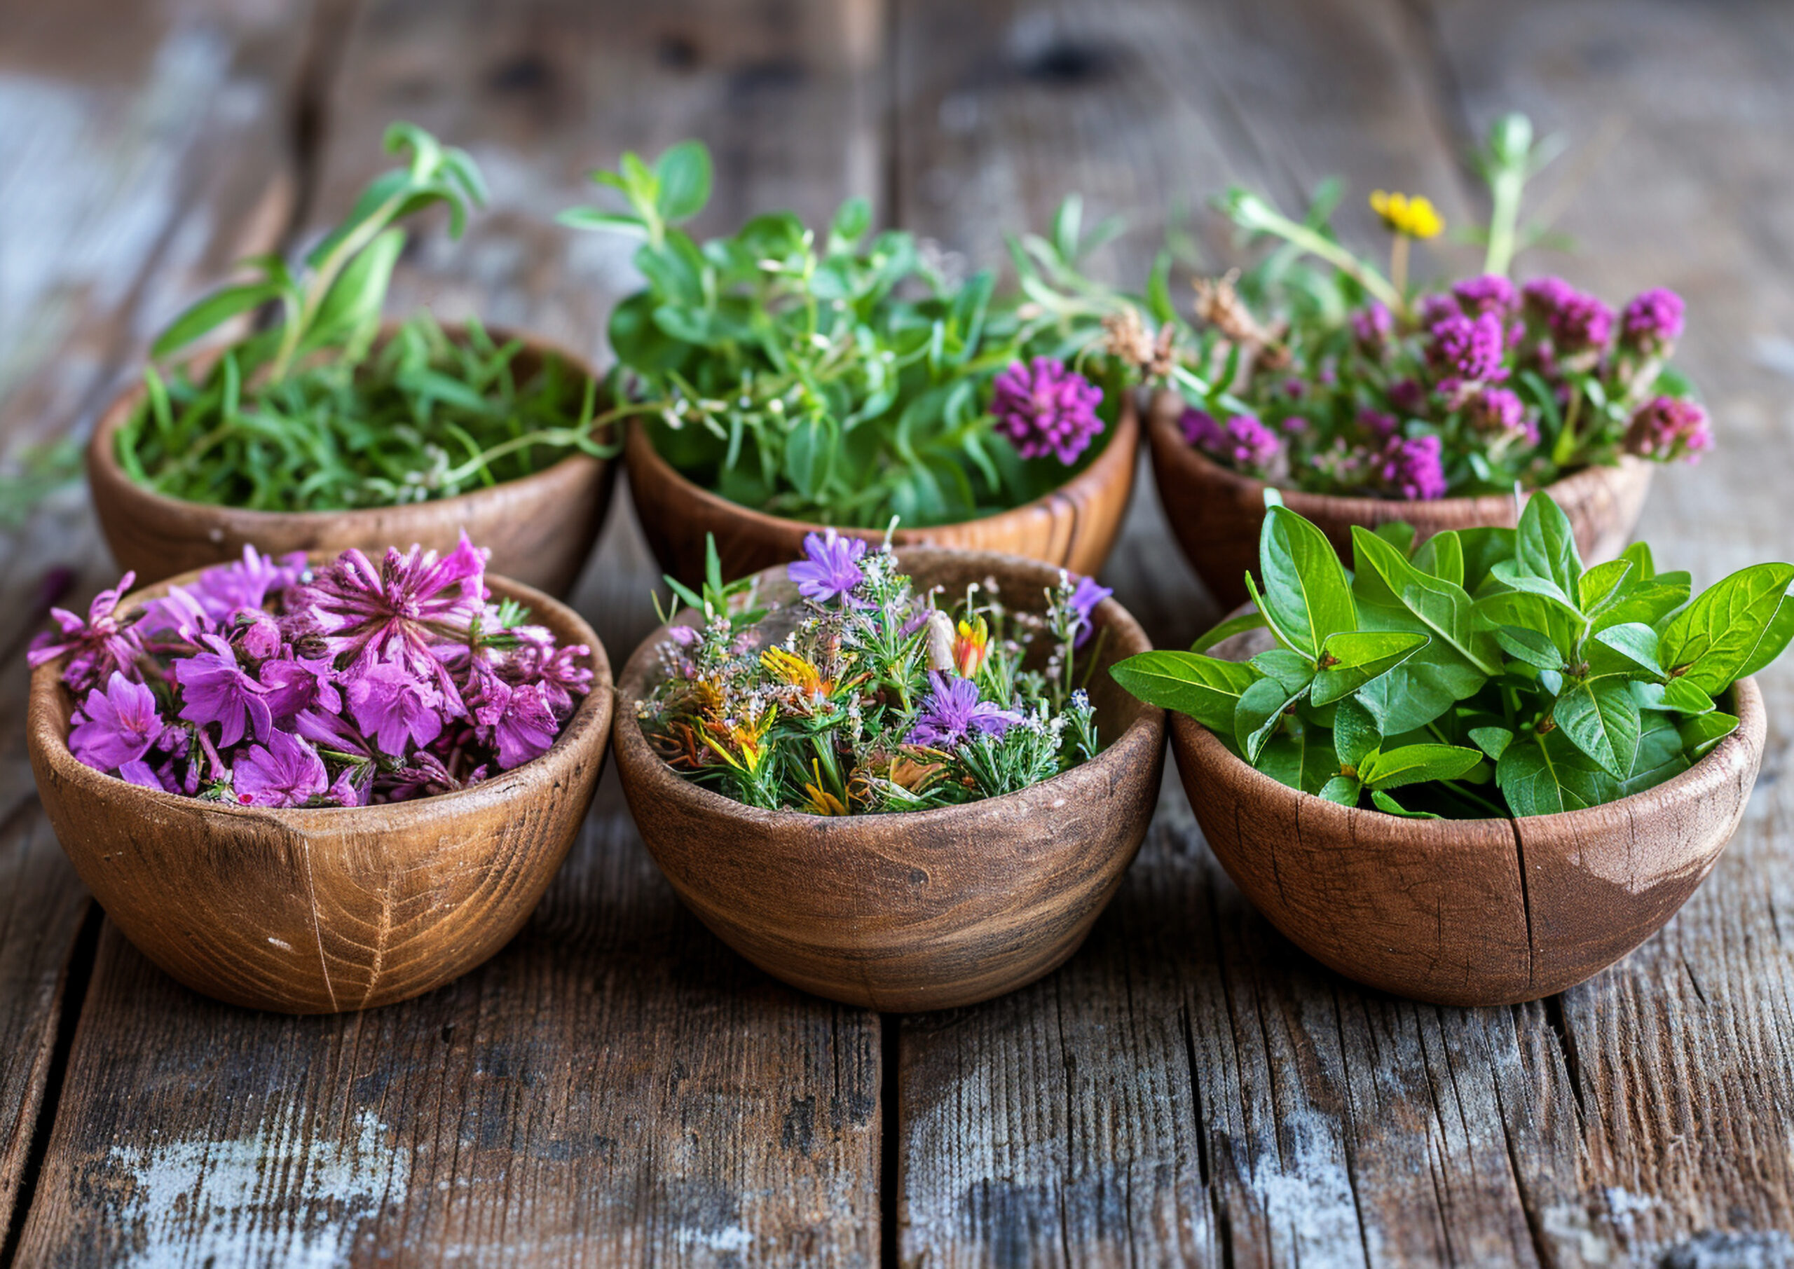
[[[764,810],[915,811],[1037,784],[1096,754],[1084,684],[1109,596],[1060,574],[1044,616],[994,580],[951,607],[917,592],[890,546],[811,533],[791,564],[798,601],[755,608],[755,582],[675,592],[701,625],[673,626],[640,704],[680,774]]]

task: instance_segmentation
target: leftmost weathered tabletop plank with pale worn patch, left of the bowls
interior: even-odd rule
[[[291,20],[301,23],[305,7]],[[77,433],[172,314],[169,284],[271,244],[300,50],[257,5],[0,4],[0,454]],[[160,300],[160,303],[158,303]],[[90,899],[32,792],[23,648],[115,580],[77,490],[0,535],[0,1242],[23,1215]],[[74,578],[57,573],[74,569]],[[72,589],[70,589],[72,582]],[[48,583],[48,587],[47,587]]]

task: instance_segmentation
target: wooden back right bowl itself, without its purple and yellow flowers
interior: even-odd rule
[[[1222,608],[1245,601],[1247,569],[1258,567],[1258,535],[1265,524],[1265,481],[1241,476],[1209,459],[1184,440],[1177,427],[1182,400],[1175,393],[1154,398],[1146,434],[1152,443],[1152,474],[1159,485],[1164,519],[1171,522],[1189,567]],[[1575,526],[1577,547],[1588,562],[1611,560],[1633,540],[1638,513],[1650,492],[1654,463],[1625,456],[1618,467],[1584,467],[1545,492]],[[1442,529],[1478,524],[1512,528],[1514,499],[1505,494],[1441,497],[1403,503],[1387,497],[1335,497],[1281,490],[1283,503],[1311,521],[1340,556],[1351,562],[1351,526],[1376,528],[1406,521],[1417,538]]]

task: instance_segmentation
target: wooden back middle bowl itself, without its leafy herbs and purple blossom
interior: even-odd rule
[[[1139,411],[1128,393],[1121,402],[1114,434],[1089,467],[1032,503],[997,515],[958,524],[899,529],[897,546],[944,546],[962,551],[1001,551],[1044,560],[1058,569],[1096,574],[1121,531],[1134,463],[1139,451]],[[804,535],[820,524],[786,521],[730,503],[685,479],[666,461],[640,424],[631,424],[624,442],[630,497],[648,546],[687,585],[703,580],[705,538],[716,535],[725,578],[780,567],[804,549]],[[840,529],[843,535],[883,542],[884,529]]]

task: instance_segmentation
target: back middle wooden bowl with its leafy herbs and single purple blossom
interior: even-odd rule
[[[1118,223],[1067,199],[1012,241],[1015,294],[958,276],[931,244],[874,233],[865,199],[823,232],[750,219],[696,242],[680,223],[709,153],[626,154],[594,179],[623,210],[562,221],[640,239],[648,285],[610,321],[612,395],[633,415],[630,492],[664,569],[696,585],[791,558],[823,526],[868,540],[994,549],[1096,573],[1134,481],[1137,382],[1164,350],[1141,303],[1084,276]]]

